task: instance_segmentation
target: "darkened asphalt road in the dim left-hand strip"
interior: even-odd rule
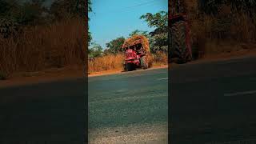
[[[83,78],[0,88],[0,143],[84,143]]]

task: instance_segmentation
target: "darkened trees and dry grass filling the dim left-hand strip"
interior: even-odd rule
[[[0,0],[0,79],[16,72],[85,65],[85,2],[44,2]]]

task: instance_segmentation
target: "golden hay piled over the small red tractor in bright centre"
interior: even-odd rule
[[[150,44],[148,39],[144,35],[134,35],[133,37],[126,39],[126,41],[122,45],[122,48],[130,48],[131,46],[135,46],[138,44],[142,44],[142,50],[145,53],[150,53]]]

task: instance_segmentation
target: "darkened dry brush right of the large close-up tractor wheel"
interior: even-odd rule
[[[184,4],[199,58],[256,48],[255,1],[192,0]]]

